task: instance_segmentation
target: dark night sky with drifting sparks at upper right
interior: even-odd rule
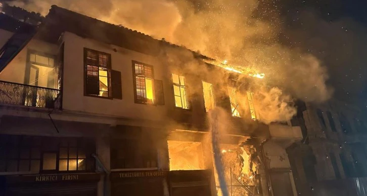
[[[328,68],[337,99],[367,106],[367,1],[280,0],[281,40],[312,53]],[[287,37],[287,38],[285,38]]]

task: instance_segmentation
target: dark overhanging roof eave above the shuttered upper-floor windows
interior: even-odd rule
[[[44,33],[41,33],[41,36],[47,38],[50,42],[56,42],[62,32],[69,31],[82,37],[93,38],[106,44],[149,55],[158,55],[162,46],[189,50],[164,40],[157,40],[142,32],[91,18],[55,5],[51,7],[49,14],[46,16],[42,31]],[[198,52],[189,51],[195,57],[211,59]]]

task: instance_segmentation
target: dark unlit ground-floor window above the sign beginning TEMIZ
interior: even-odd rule
[[[157,147],[147,137],[111,140],[111,169],[156,168]]]

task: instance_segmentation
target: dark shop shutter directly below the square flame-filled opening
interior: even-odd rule
[[[171,196],[211,196],[210,170],[170,171],[169,187]]]

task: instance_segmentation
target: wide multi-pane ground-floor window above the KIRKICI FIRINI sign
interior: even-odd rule
[[[93,139],[0,135],[0,172],[93,172]]]

